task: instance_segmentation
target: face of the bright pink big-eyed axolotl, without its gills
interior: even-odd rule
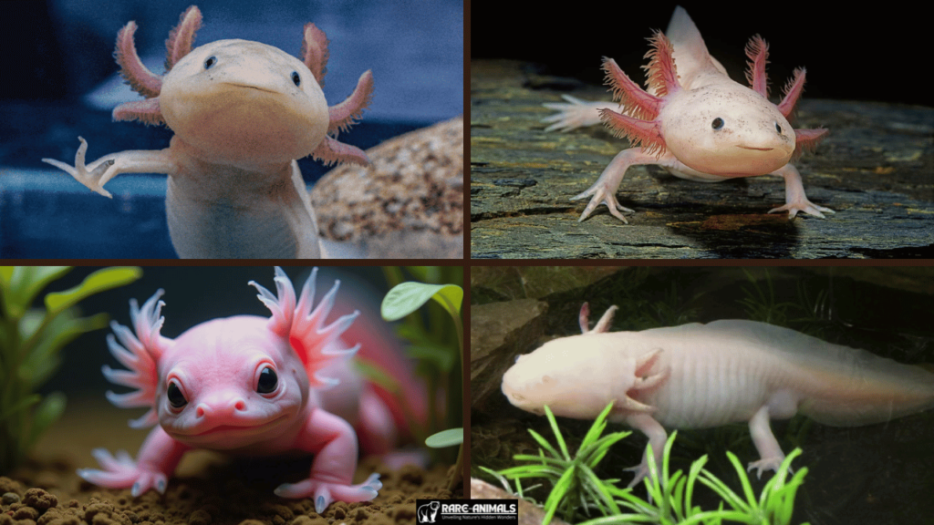
[[[269,319],[236,316],[178,336],[159,360],[156,409],[165,433],[192,447],[265,442],[304,422],[304,365]]]

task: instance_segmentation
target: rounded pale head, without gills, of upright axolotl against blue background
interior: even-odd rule
[[[301,159],[330,122],[324,93],[302,61],[239,39],[191,50],[165,75],[159,105],[198,158],[234,165]]]

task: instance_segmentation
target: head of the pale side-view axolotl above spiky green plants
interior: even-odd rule
[[[502,393],[522,410],[593,419],[615,401],[615,411],[648,411],[632,399],[634,390],[655,386],[665,374],[646,376],[660,350],[631,352],[622,333],[560,337],[531,354],[518,356],[502,376]]]

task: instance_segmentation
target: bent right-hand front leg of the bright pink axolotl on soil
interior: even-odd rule
[[[311,476],[298,483],[284,483],[276,489],[283,498],[314,498],[315,511],[324,512],[335,499],[367,502],[376,497],[383,484],[379,475],[370,475],[353,485],[357,465],[357,436],[346,420],[316,408],[299,433],[294,448],[315,454]]]

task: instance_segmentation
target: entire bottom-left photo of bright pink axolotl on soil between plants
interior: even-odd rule
[[[463,497],[463,269],[0,266],[0,524]]]

